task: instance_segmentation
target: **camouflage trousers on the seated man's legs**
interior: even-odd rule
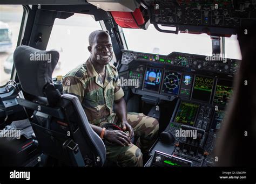
[[[106,158],[118,166],[143,166],[143,153],[149,151],[157,138],[158,121],[143,113],[128,112],[127,122],[132,126],[134,136],[138,138],[137,143],[125,147],[106,145]],[[114,116],[113,123],[120,126],[117,116]],[[99,126],[104,124],[100,123]]]

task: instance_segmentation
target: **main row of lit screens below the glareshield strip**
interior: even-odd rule
[[[132,75],[131,75],[132,74]],[[136,77],[131,77],[136,75]],[[152,95],[160,100],[172,101],[179,97],[201,103],[224,107],[233,94],[232,82],[227,79],[188,74],[176,70],[145,67],[144,73],[129,71],[129,79],[138,80],[138,88],[131,86],[134,94]]]

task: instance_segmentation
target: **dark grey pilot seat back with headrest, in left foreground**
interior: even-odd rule
[[[39,60],[31,60],[33,56]],[[60,95],[53,86],[52,72],[58,59],[57,51],[16,48],[14,65],[19,82],[23,91],[34,97],[17,101],[34,110],[31,125],[44,154],[68,166],[102,166],[106,159],[104,143],[92,130],[78,98]]]

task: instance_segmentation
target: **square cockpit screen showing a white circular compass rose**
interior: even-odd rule
[[[163,78],[163,87],[161,89],[161,92],[166,94],[178,95],[180,88],[180,80],[180,72],[172,72],[166,70]]]

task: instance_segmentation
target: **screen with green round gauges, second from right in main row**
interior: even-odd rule
[[[213,79],[211,77],[196,76],[196,79],[194,80],[192,99],[210,102],[212,87]]]

